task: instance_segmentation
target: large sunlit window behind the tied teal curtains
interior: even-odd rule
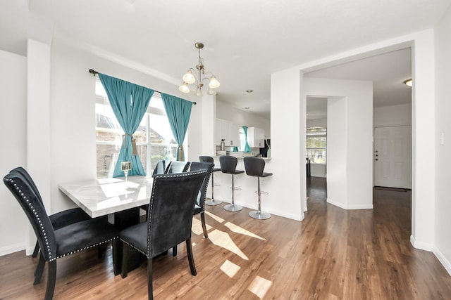
[[[160,159],[175,160],[178,145],[173,137],[163,100],[158,92],[152,96],[147,112],[133,136],[136,139],[137,152],[147,175],[152,174],[156,162]],[[113,175],[123,137],[124,131],[113,113],[104,86],[97,80],[97,178]]]

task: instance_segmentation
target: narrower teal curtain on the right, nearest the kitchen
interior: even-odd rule
[[[163,99],[164,109],[166,110],[166,115],[168,115],[172,133],[178,144],[177,160],[183,161],[185,160],[183,141],[185,140],[188,124],[190,124],[192,102],[166,93],[161,93],[161,98]]]

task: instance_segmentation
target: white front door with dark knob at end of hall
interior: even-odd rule
[[[411,127],[376,127],[373,159],[374,185],[412,188]]]

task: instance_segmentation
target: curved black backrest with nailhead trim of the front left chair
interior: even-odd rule
[[[55,260],[57,254],[54,228],[34,188],[30,186],[27,178],[17,170],[9,172],[9,174],[4,176],[3,181],[14,197],[16,197],[33,230],[35,230],[44,260]]]

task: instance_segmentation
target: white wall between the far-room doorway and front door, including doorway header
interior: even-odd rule
[[[304,77],[302,87],[328,96],[328,202],[373,208],[373,83]]]

